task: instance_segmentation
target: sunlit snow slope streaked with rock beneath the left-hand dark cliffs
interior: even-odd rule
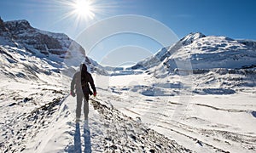
[[[49,77],[61,77],[54,61],[39,59],[24,49],[0,45],[0,54],[3,80],[49,82]]]

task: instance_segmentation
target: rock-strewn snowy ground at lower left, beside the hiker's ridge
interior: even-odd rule
[[[1,82],[1,152],[25,150],[30,140],[49,126],[55,105],[65,94],[61,89],[42,82]]]

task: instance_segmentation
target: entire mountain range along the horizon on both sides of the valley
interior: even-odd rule
[[[67,35],[38,30],[33,28],[27,20],[7,22],[0,20],[0,50],[2,60],[5,58],[9,63],[19,63],[19,61],[26,60],[28,56],[33,56],[50,65],[52,68],[48,71],[65,70],[65,74],[69,76],[83,61],[90,65],[92,72],[101,75],[111,74],[114,70],[123,71],[123,68],[99,65],[93,59],[86,57],[84,48]],[[14,54],[20,55],[15,58]],[[8,62],[5,64],[8,65]],[[4,62],[2,61],[2,63]],[[138,71],[164,67],[165,71],[171,72],[214,68],[254,69],[255,66],[255,41],[205,36],[197,32],[190,33],[170,47],[161,48],[152,57],[144,59],[126,70]],[[42,71],[47,71],[43,69]]]

